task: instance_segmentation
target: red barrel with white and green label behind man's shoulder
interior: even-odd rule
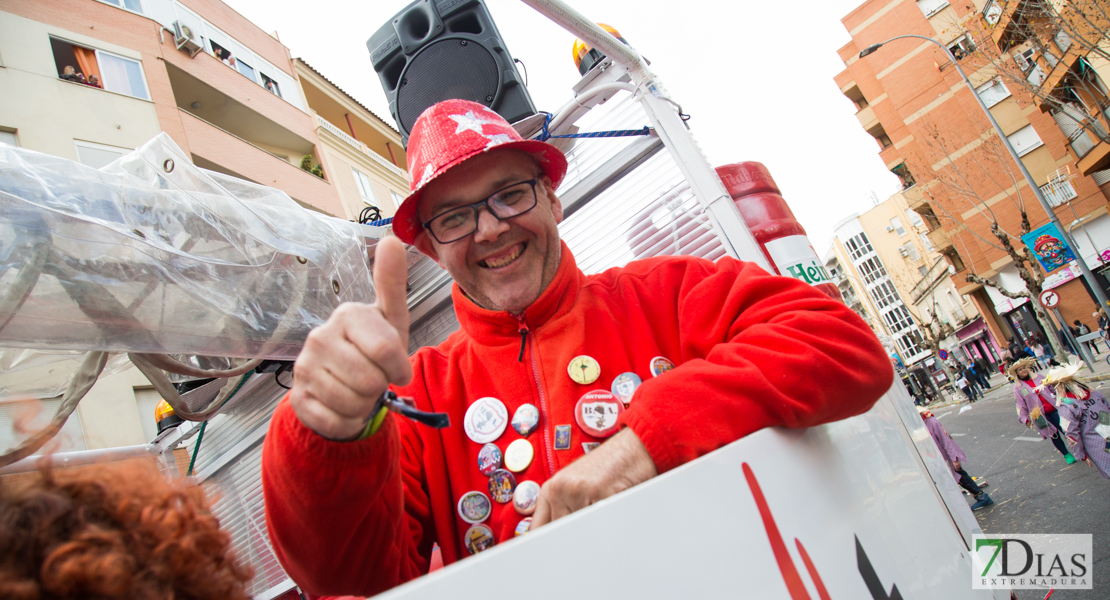
[[[775,271],[844,302],[770,171],[761,163],[748,161],[718,166],[717,175]]]

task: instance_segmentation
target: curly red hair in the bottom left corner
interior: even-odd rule
[[[0,597],[245,600],[204,492],[151,460],[0,478]]]

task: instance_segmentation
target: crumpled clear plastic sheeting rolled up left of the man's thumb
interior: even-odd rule
[[[373,301],[367,263],[354,223],[164,133],[100,171],[0,145],[0,346],[292,359]]]

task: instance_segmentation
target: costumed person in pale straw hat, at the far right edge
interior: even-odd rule
[[[1060,418],[1071,454],[1110,479],[1110,404],[1102,393],[1091,389],[1077,373],[1082,363],[1070,363],[1045,376],[1042,385],[1056,390]]]

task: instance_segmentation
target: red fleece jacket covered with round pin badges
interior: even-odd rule
[[[458,499],[488,494],[481,445],[463,429],[478,398],[501,399],[509,416],[525,403],[539,408],[528,437],[535,458],[516,479],[543,485],[583,456],[583,443],[603,441],[575,425],[574,407],[624,372],[644,384],[620,425],[659,472],[764,427],[859,415],[894,379],[882,346],[847,306],[731,258],[660,257],[587,276],[564,245],[555,279],[524,312],[523,360],[521,319],[476,306],[457,285],[454,304],[462,329],[417,352],[413,383],[397,388],[423,410],[447,413],[451,427],[391,415],[370,439],[334,443],[301,425],[287,399],[274,413],[262,457],[266,525],[306,591],[381,592],[425,573],[436,541],[445,563],[467,556]],[[567,375],[582,354],[601,365],[587,386]],[[655,356],[678,366],[653,377]],[[554,447],[557,425],[571,425],[567,450]],[[519,437],[508,427],[496,444],[504,451]],[[494,504],[485,523],[503,542],[522,518],[512,502]]]

